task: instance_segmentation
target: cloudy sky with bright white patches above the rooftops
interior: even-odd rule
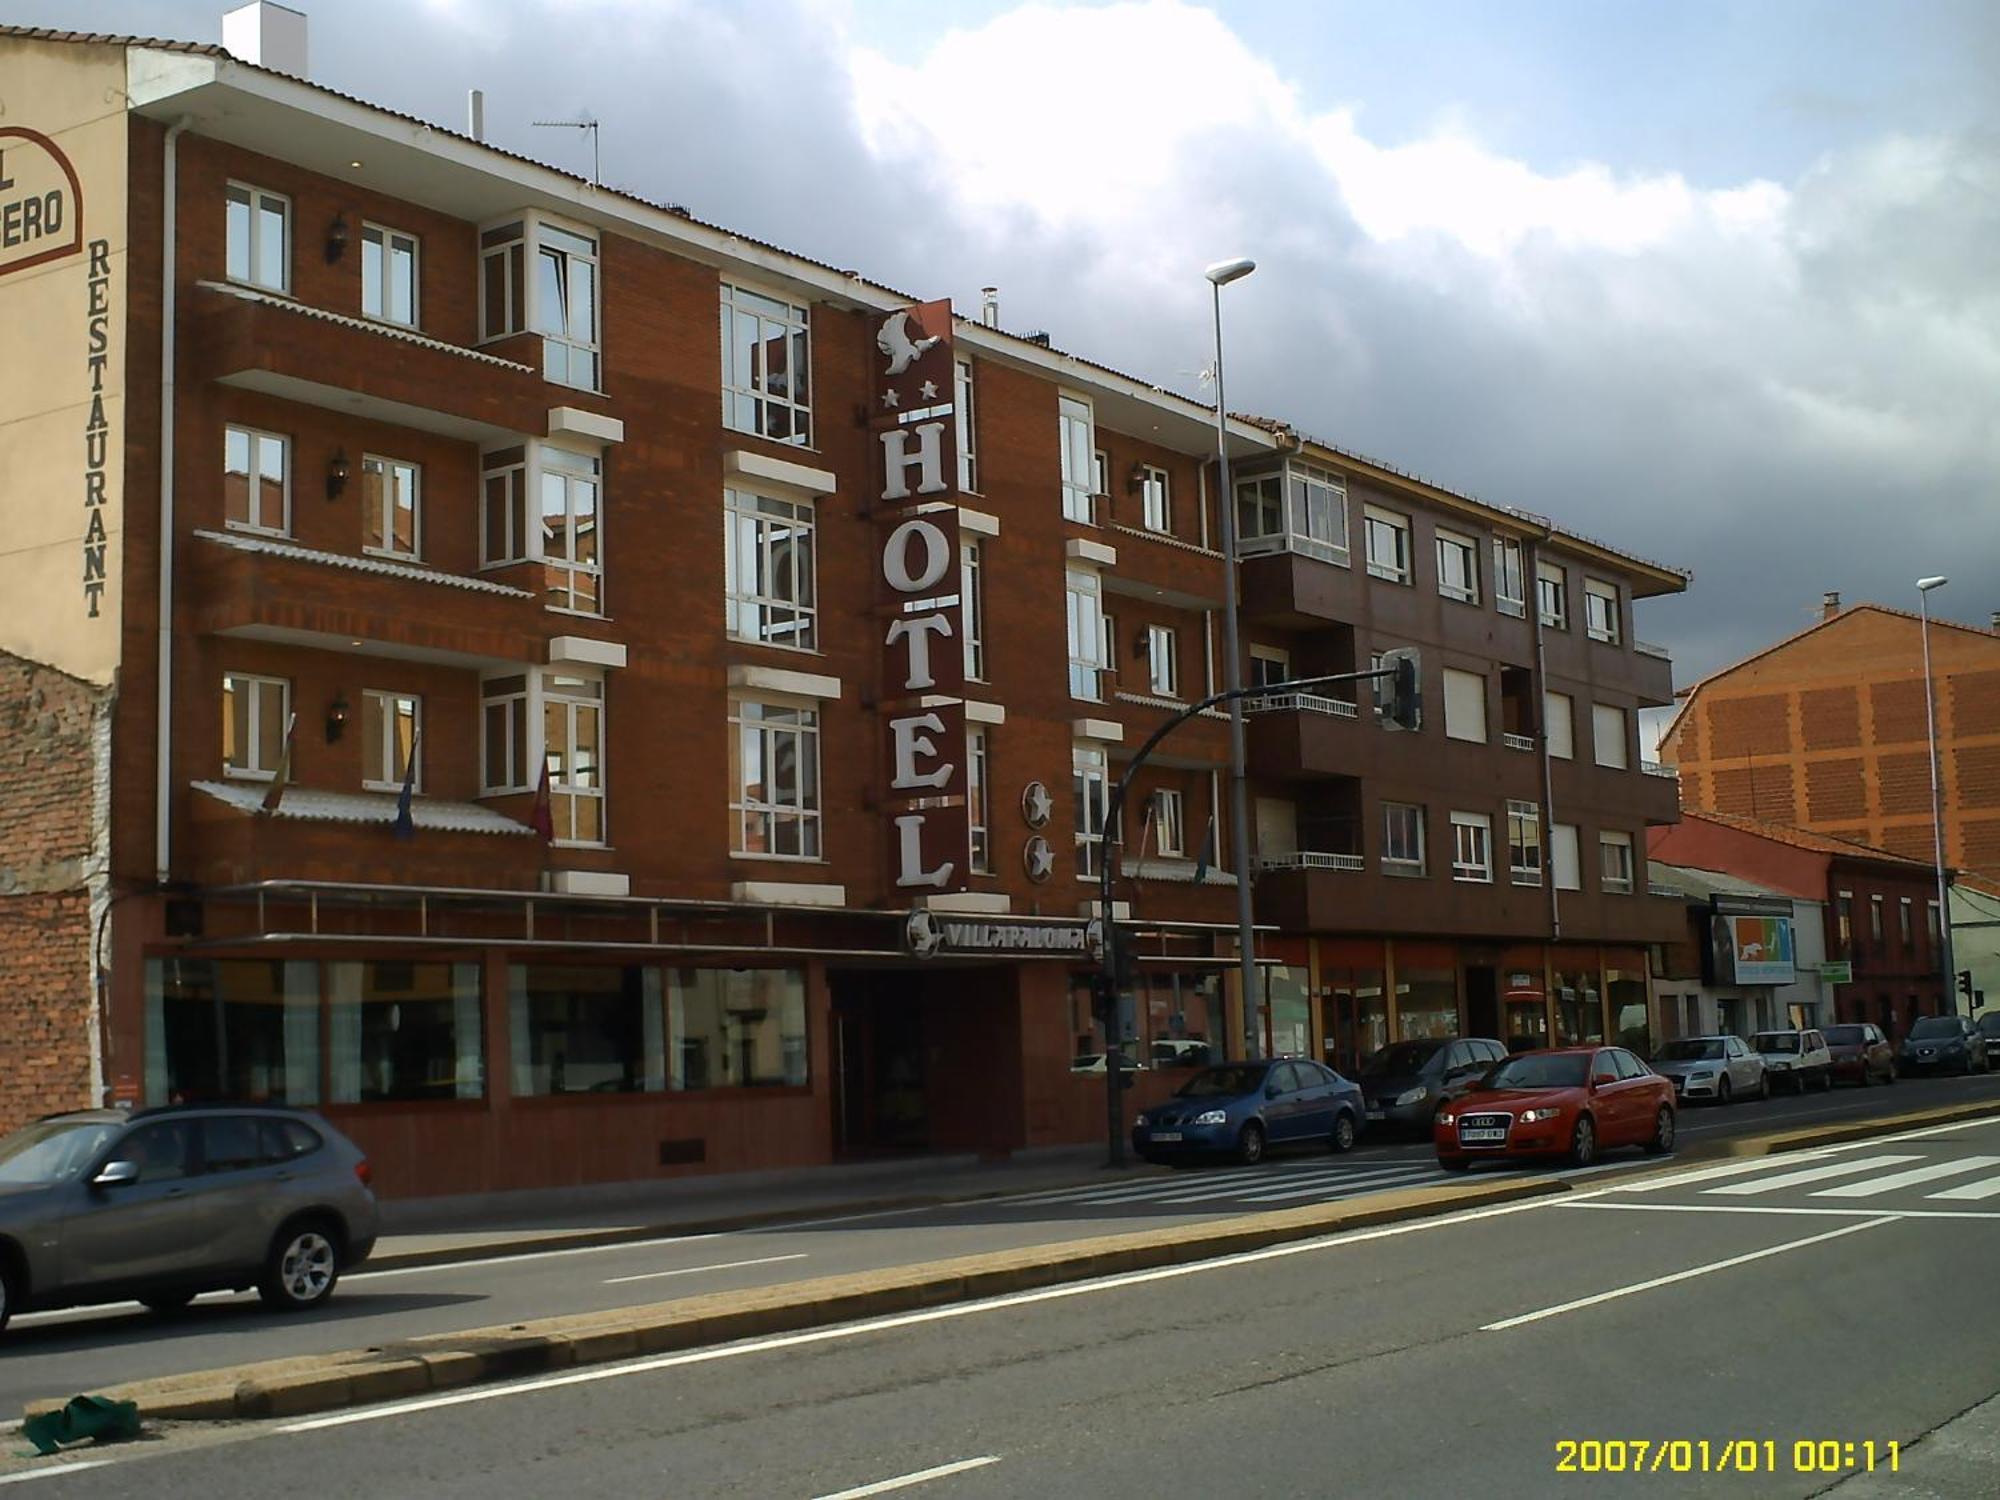
[[[296,2],[296,0],[294,0]],[[224,4],[0,0],[220,36]],[[2000,608],[2000,4],[320,0],[320,82],[1692,568]]]

